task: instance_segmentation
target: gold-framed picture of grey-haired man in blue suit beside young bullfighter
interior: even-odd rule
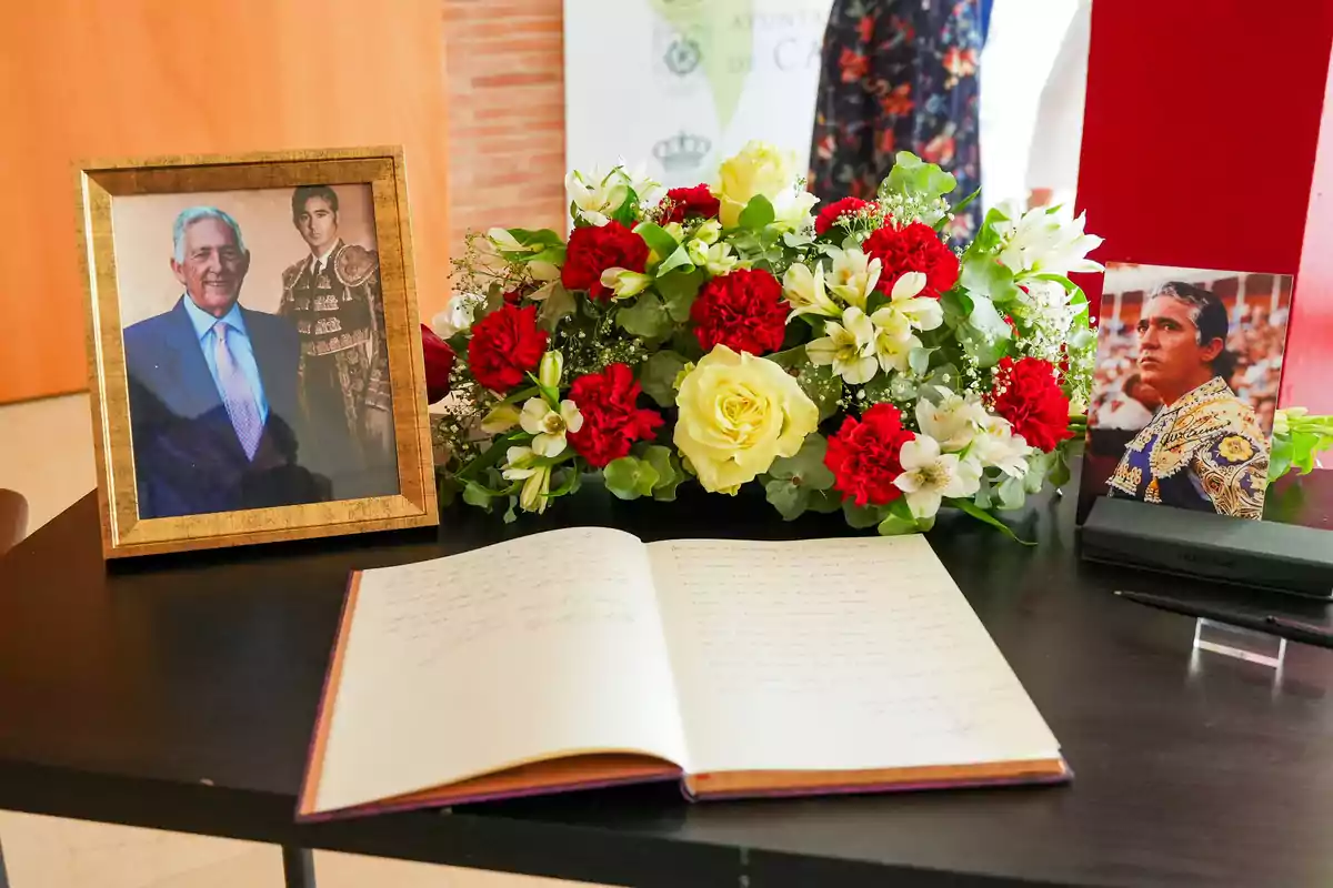
[[[397,149],[85,164],[108,558],[437,522]]]

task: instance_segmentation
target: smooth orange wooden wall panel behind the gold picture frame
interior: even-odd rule
[[[7,4],[0,402],[85,387],[81,157],[400,144],[431,317],[448,297],[445,93],[440,0]]]

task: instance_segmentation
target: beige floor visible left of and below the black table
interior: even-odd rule
[[[96,486],[87,395],[0,406],[0,487],[28,498],[29,533]],[[11,888],[280,888],[277,848],[0,812]],[[569,888],[572,883],[316,853],[320,888]]]

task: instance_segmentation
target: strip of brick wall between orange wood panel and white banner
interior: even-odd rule
[[[449,253],[493,225],[564,217],[563,0],[443,0]]]

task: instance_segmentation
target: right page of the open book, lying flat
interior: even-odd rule
[[[921,537],[648,554],[693,774],[1058,756]]]

